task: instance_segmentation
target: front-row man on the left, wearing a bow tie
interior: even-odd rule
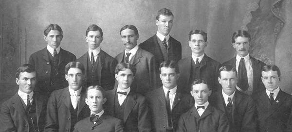
[[[122,120],[105,114],[103,104],[107,101],[101,86],[89,86],[85,103],[90,108],[90,117],[76,123],[73,132],[123,132]]]

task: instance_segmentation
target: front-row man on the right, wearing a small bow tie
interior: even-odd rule
[[[227,116],[209,104],[212,91],[206,81],[195,80],[190,92],[195,105],[181,115],[176,132],[228,132]]]

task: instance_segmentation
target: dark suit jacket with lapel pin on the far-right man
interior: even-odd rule
[[[292,96],[279,91],[273,105],[265,90],[254,96],[257,132],[292,132]]]

